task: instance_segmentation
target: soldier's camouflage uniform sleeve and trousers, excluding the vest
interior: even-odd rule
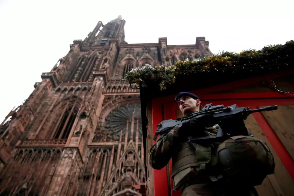
[[[218,125],[215,125],[214,127],[211,127],[211,128],[206,128],[206,130],[204,131],[202,136],[213,137],[216,135],[217,129],[218,129]],[[185,146],[185,147],[183,147],[183,146]],[[179,149],[183,149],[183,148],[185,148],[185,149],[191,148],[192,149],[192,147],[187,145],[187,142],[182,139],[182,135],[181,135],[181,132],[179,131],[179,127],[176,126],[171,131],[169,131],[169,133],[160,135],[158,140],[156,141],[156,143],[151,147],[150,154],[149,154],[149,164],[151,165],[152,168],[160,170],[163,167],[165,167],[169,163],[169,160],[172,158],[172,162],[173,162],[172,163],[172,167],[173,167],[172,173],[173,173],[173,172],[175,172],[174,167],[177,165],[177,162],[174,163],[174,159],[177,159],[179,156],[180,157],[189,156],[189,153],[187,153],[187,152],[184,152],[185,155],[179,155],[179,151],[180,151]],[[191,149],[190,149],[190,151],[192,152],[193,150],[191,150]],[[194,153],[193,156],[197,157],[196,155],[200,155],[200,157],[201,157],[201,154],[199,154],[199,153],[197,154],[197,152]],[[206,169],[209,168],[209,164],[214,165],[214,164],[212,164],[212,162],[215,162],[215,161],[217,162],[214,149],[211,150],[211,153],[209,155],[211,157],[209,159],[209,163],[205,164]],[[196,158],[196,160],[197,160],[197,158]],[[201,158],[200,158],[200,160],[201,160]],[[199,159],[197,161],[199,161]],[[197,162],[197,161],[194,161],[194,162]],[[200,164],[197,164],[197,163],[195,163],[195,165],[189,164],[190,167],[196,167],[199,165]],[[182,168],[183,167],[177,168],[177,171],[179,171],[179,169],[182,169]],[[211,168],[213,170],[213,167],[211,167]],[[211,178],[209,178],[209,175],[207,173],[204,173],[204,175],[203,175],[200,172],[198,172],[199,169],[195,169],[195,171],[196,171],[195,174],[197,174],[195,176],[195,178],[193,178],[193,179],[189,178],[188,182],[186,182],[186,184],[183,187],[180,187],[180,188],[182,188],[182,196],[192,196],[192,195],[199,195],[199,196],[200,195],[201,196],[218,195],[218,196],[221,196],[221,195],[234,195],[234,193],[236,194],[235,191],[233,191],[233,193],[231,193],[231,194],[230,193],[225,194],[224,189],[227,192],[228,188],[226,188],[226,187],[228,187],[228,186],[221,184],[222,180],[212,183],[212,181],[210,180]],[[232,190],[232,187],[230,186],[229,189]],[[240,190],[240,189],[242,190],[241,192],[242,192],[242,195],[244,195],[244,196],[257,195],[256,193],[253,194],[252,191],[250,191],[250,188],[246,188],[246,190],[244,190],[243,188],[238,188],[237,190]],[[240,191],[238,191],[237,195],[241,195],[239,193],[240,193]]]

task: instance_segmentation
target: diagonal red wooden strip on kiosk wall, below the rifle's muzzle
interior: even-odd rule
[[[262,113],[256,112],[253,113],[253,116],[256,122],[259,124],[263,133],[265,133],[266,138],[269,140],[269,143],[272,145],[282,164],[288,171],[289,175],[294,180],[294,161],[292,157],[287,152],[286,148],[283,146],[282,142],[276,136],[276,133],[272,130],[272,127],[269,126],[269,123],[263,117]]]

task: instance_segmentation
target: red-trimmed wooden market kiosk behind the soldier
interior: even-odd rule
[[[260,63],[255,63],[255,66],[247,59],[247,66],[240,69],[234,69],[231,65],[232,69],[204,69],[178,74],[175,82],[168,84],[164,90],[159,88],[159,77],[145,79],[144,87],[140,84],[140,97],[147,195],[181,195],[181,191],[172,191],[171,161],[161,170],[152,169],[148,163],[157,124],[162,120],[181,117],[175,103],[175,96],[179,92],[195,93],[200,97],[202,106],[207,103],[224,106],[237,104],[256,109],[278,105],[278,110],[254,113],[245,121],[250,132],[268,144],[276,161],[276,173],[269,175],[256,189],[261,196],[294,195],[293,52],[283,54],[285,58],[277,55],[275,61],[271,57],[271,62],[266,59],[261,62],[259,59]],[[279,55],[282,56],[282,53]]]

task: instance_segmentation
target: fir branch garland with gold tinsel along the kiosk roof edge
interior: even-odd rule
[[[203,59],[186,59],[178,61],[175,65],[165,67],[146,64],[142,68],[132,69],[125,74],[125,79],[130,84],[141,84],[142,87],[153,81],[163,90],[168,84],[175,82],[179,75],[201,73],[209,70],[224,70],[242,67],[244,65],[257,65],[262,62],[293,56],[294,41],[288,41],[284,45],[265,46],[261,50],[244,50],[240,53],[222,52]]]

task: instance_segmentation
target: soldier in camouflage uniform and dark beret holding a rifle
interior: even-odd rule
[[[183,116],[202,109],[198,96],[182,92],[175,97]],[[167,134],[159,136],[151,147],[149,164],[154,169],[162,169],[172,158],[172,178],[174,190],[182,189],[182,196],[192,195],[258,195],[254,186],[242,184],[228,185],[218,167],[216,148],[218,144],[195,144],[195,148],[187,142],[188,134],[209,137],[215,136],[218,125],[204,128],[201,122],[190,120],[181,126],[175,126]],[[202,129],[201,133],[193,130]],[[236,192],[237,191],[237,192]]]

